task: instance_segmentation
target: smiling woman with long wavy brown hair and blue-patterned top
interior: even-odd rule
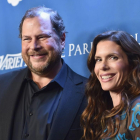
[[[88,57],[85,140],[140,140],[140,46],[128,33],[108,31]]]

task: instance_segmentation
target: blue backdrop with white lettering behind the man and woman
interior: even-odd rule
[[[99,33],[123,30],[140,42],[139,0],[1,0],[0,74],[26,67],[18,27],[25,11],[37,6],[61,15],[68,32],[62,58],[85,77],[90,74],[87,57],[92,41]]]

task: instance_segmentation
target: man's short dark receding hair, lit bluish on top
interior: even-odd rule
[[[39,6],[39,7],[34,7],[27,10],[25,15],[23,16],[21,23],[19,25],[20,38],[22,38],[22,25],[23,25],[24,20],[26,18],[39,17],[42,12],[50,14],[50,20],[51,20],[53,29],[59,37],[61,37],[63,33],[66,33],[65,26],[64,26],[61,16],[56,11],[53,11],[50,8]]]

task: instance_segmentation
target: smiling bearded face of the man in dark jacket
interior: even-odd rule
[[[60,63],[65,39],[52,29],[50,15],[27,18],[22,26],[22,57],[29,69],[36,74],[45,74]]]

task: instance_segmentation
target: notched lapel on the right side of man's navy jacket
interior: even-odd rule
[[[78,83],[76,85],[70,78],[67,79],[48,140],[65,139],[84,96],[83,84]]]

